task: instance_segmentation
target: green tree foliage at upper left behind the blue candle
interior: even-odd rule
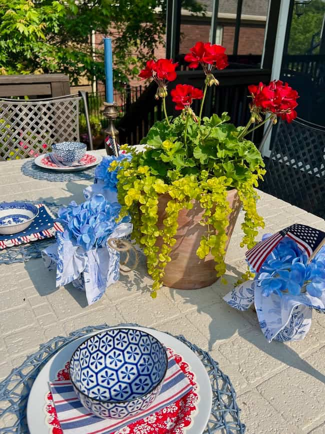
[[[183,7],[201,12],[196,0]],[[163,42],[166,0],[0,0],[0,73],[62,72],[103,78],[102,48],[93,60],[90,34],[114,39],[115,79],[127,81]],[[136,59],[134,57],[136,53]]]

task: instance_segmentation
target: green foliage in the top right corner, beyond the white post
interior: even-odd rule
[[[325,3],[322,0],[312,0],[305,7],[304,14],[297,18],[293,12],[288,44],[288,54],[307,54],[310,49],[312,36],[320,32],[325,14]],[[319,42],[319,35],[315,42]],[[319,47],[312,54],[317,54]]]

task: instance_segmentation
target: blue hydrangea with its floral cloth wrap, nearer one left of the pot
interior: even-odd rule
[[[120,208],[97,194],[58,210],[64,231],[56,234],[55,245],[42,251],[45,266],[56,268],[56,287],[72,282],[92,304],[119,278],[119,253],[107,240],[125,238],[132,231],[129,217],[116,223]]]

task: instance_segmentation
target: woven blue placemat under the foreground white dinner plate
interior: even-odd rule
[[[135,327],[138,324],[118,325]],[[54,337],[47,343],[40,345],[38,351],[28,356],[18,368],[13,369],[10,375],[0,382],[0,418],[3,418],[3,423],[0,423],[0,434],[29,432],[26,420],[28,394],[38,372],[51,355],[72,340],[106,327],[108,327],[107,324],[89,326],[73,331],[67,337]],[[236,393],[229,377],[219,369],[217,362],[212,359],[208,352],[192,344],[184,336],[174,337],[187,345],[198,356],[211,381],[212,408],[204,433],[244,433],[245,425],[240,422],[240,409],[236,404]],[[39,414],[39,417],[43,417],[43,415]]]

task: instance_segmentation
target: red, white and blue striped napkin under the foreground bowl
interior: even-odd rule
[[[168,351],[168,350],[167,350]],[[173,356],[168,351],[168,368],[158,397],[143,412],[125,419],[101,419],[89,413],[77,398],[70,381],[50,382],[57,418],[64,434],[110,434],[161,408],[173,404],[192,389]]]

